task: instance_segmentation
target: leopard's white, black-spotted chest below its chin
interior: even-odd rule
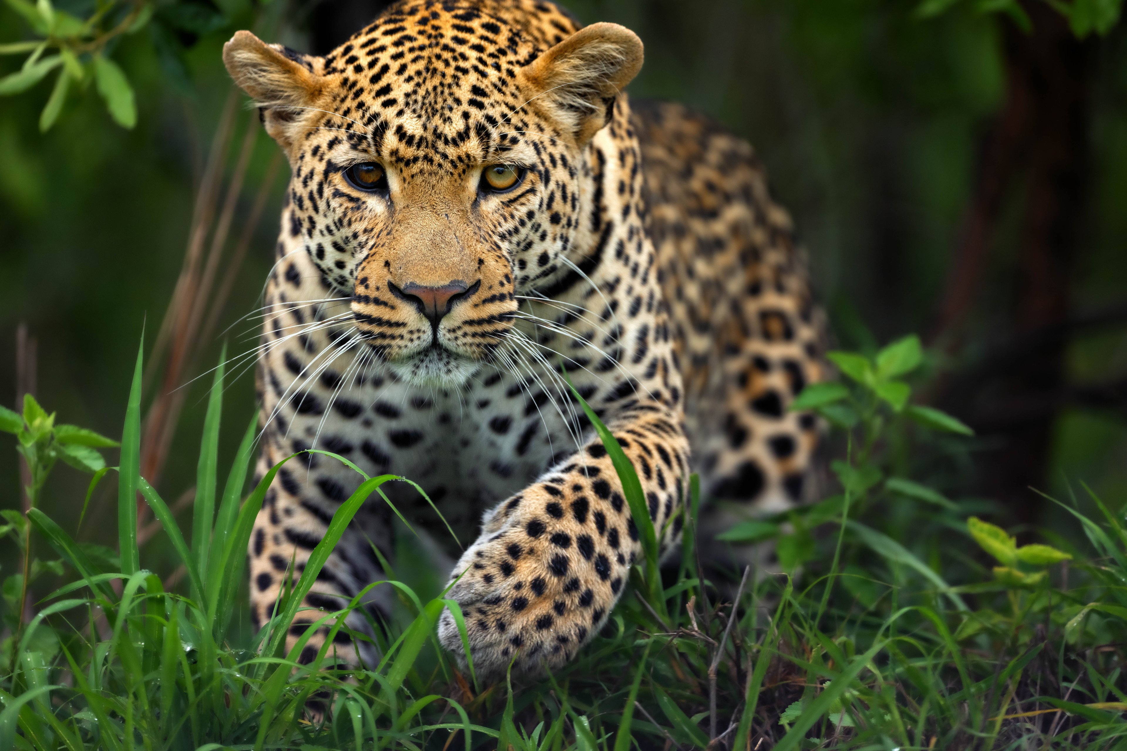
[[[419,386],[364,364],[362,352],[334,357],[328,338],[307,342],[267,350],[260,360],[270,462],[320,449],[371,476],[401,475],[417,482],[463,536],[476,533],[486,508],[576,448],[577,436],[560,414],[574,406],[558,408],[558,395],[548,397],[536,378],[486,365],[455,388]],[[362,481],[332,457],[313,453],[298,461],[305,471],[291,474],[302,495],[319,502],[340,502]],[[412,524],[449,537],[416,489],[393,483],[385,490]]]

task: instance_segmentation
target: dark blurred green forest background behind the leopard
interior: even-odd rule
[[[583,21],[613,20],[641,36],[647,62],[631,96],[685,101],[756,146],[796,218],[840,345],[872,350],[907,332],[934,345],[924,393],[979,435],[933,482],[999,500],[1003,524],[1053,525],[1027,485],[1064,494],[1083,480],[1122,506],[1127,30],[1113,24],[1118,1],[1066,6],[1103,12],[1102,34],[1077,28],[1075,17],[1070,28],[1033,0],[993,3],[1010,12],[931,1],[942,12],[928,17],[904,0],[566,5]],[[101,6],[55,7],[86,18]],[[51,77],[0,98],[5,403],[15,400],[16,328],[26,322],[38,341],[41,402],[62,421],[119,433],[132,357],[142,328],[152,345],[168,306],[230,96],[223,42],[251,28],[326,52],[381,7],[161,0],[143,28],[105,48],[132,83],[132,129],[114,123],[89,77],[71,86],[46,133]],[[18,0],[0,5],[0,44],[35,38],[18,11]],[[23,59],[0,57],[0,78]],[[246,128],[258,127],[254,113],[237,110],[224,175]],[[275,152],[259,133],[225,259]],[[219,279],[233,286],[216,332],[259,304],[286,173],[283,164],[266,186],[246,262],[221,265]],[[227,338],[232,354],[248,351],[256,327],[234,325]],[[218,333],[203,342],[183,381],[206,369],[220,345]],[[205,387],[187,387],[159,480],[170,501],[194,482]],[[233,454],[252,409],[251,375],[229,393],[236,406],[221,455]],[[19,506],[16,476],[15,453],[0,452],[6,508]],[[48,516],[77,522],[81,482],[56,473],[44,493]],[[81,538],[109,531],[109,498],[112,488],[95,495]]]

